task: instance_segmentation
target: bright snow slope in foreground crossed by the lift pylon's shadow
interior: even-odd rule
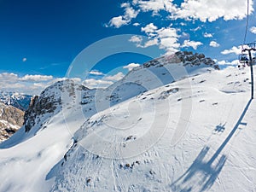
[[[247,71],[228,68],[97,113],[47,179],[51,191],[254,191],[256,109]],[[192,103],[182,131],[182,102]],[[78,144],[79,143],[79,144]]]

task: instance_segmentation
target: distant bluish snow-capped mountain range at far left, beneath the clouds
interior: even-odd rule
[[[15,108],[19,108],[22,111],[26,111],[26,109],[29,107],[31,98],[32,96],[26,94],[0,90],[0,102],[3,102],[6,105],[14,106]]]

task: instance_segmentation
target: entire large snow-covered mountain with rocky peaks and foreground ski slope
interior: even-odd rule
[[[178,52],[107,89],[66,80],[0,144],[0,191],[254,191],[249,70]]]

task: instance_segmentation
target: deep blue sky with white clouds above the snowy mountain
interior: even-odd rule
[[[250,0],[247,43],[255,41],[254,9]],[[83,49],[123,34],[133,34],[125,40],[134,45],[134,53],[120,51],[105,55],[93,68],[81,67],[90,70],[79,77],[87,78],[85,84],[107,86],[131,67],[177,50],[236,64],[246,14],[247,1],[241,0],[1,0],[0,89],[38,94],[45,85],[64,78]],[[116,44],[102,46],[111,49]],[[146,49],[154,49],[154,54],[137,54]]]

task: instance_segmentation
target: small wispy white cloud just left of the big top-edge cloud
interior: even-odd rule
[[[139,13],[138,10],[131,7],[130,3],[122,3],[121,8],[125,9],[125,14],[113,17],[111,20],[109,20],[108,25],[106,26],[119,28],[120,26],[128,25],[132,19],[137,17]]]

